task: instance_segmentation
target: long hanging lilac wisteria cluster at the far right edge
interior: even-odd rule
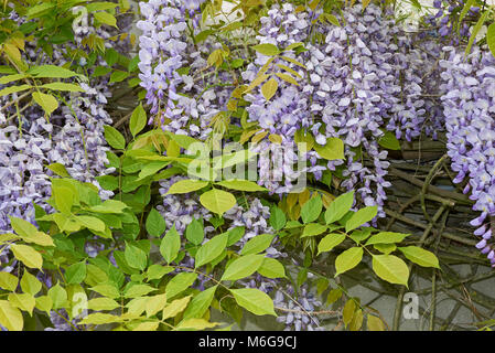
[[[474,234],[482,237],[476,247],[495,266],[491,225],[495,216],[495,58],[477,46],[465,60],[454,47],[443,50],[448,57],[440,62],[445,92],[441,100],[448,154],[458,173],[454,182],[469,180],[464,193],[475,201],[473,210],[481,212],[471,221],[477,227]]]

